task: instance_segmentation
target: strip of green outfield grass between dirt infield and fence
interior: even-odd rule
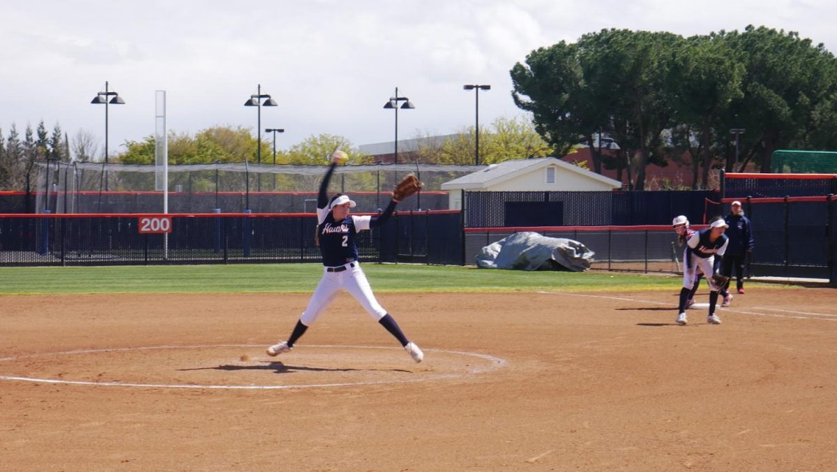
[[[409,264],[363,265],[376,292],[676,291],[680,277],[526,272]],[[313,292],[319,264],[0,267],[0,294]],[[775,285],[774,285],[775,287]]]

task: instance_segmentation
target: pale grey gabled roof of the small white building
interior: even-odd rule
[[[622,187],[619,180],[609,179],[603,175],[590,172],[587,169],[582,169],[577,165],[565,163],[559,158],[537,158],[537,159],[516,159],[505,161],[497,164],[491,164],[485,169],[478,170],[474,173],[463,175],[459,179],[453,179],[442,184],[443,190],[447,189],[487,189],[492,185],[498,184],[504,180],[513,179],[522,174],[528,174],[533,170],[541,169],[549,165],[555,165],[565,172],[574,172],[581,174],[588,179],[597,180],[603,184],[608,184],[615,189]]]

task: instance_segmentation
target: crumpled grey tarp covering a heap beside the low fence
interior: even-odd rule
[[[595,252],[578,241],[524,231],[482,248],[476,265],[487,269],[586,271]]]

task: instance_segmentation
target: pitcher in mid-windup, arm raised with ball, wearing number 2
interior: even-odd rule
[[[398,201],[391,200],[387,209],[378,216],[350,216],[349,209],[355,206],[355,202],[350,200],[347,195],[337,194],[331,200],[326,195],[331,174],[339,162],[341,162],[341,158],[335,155],[326,176],[320,184],[320,192],[317,196],[316,239],[320,246],[322,263],[325,266],[323,267],[320,284],[317,285],[311,301],[308,302],[308,307],[302,312],[302,316],[296,322],[288,340],[271,345],[267,348],[267,353],[269,355],[280,355],[293,349],[296,340],[299,340],[300,336],[305,334],[306,329],[314,324],[323,310],[337,296],[337,293],[346,290],[361,303],[363,308],[372,316],[372,319],[375,319],[395,336],[398,342],[403,345],[404,350],[413,357],[413,360],[421,362],[424,359],[424,353],[418,345],[410,342],[404,336],[395,319],[377,303],[375,294],[372,293],[372,288],[367,282],[367,277],[363,273],[360,262],[358,262],[357,242],[355,240],[357,233],[386,223],[393,215],[393,210],[395,210],[395,205],[398,205]]]

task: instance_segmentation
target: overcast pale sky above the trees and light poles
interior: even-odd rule
[[[41,120],[72,139],[104,142],[105,80],[126,101],[109,106],[110,154],[154,132],[154,95],[167,91],[168,127],[255,130],[245,107],[260,83],[279,106],[262,128],[285,128],[277,148],[330,133],[354,145],[458,132],[521,112],[509,70],[533,49],[603,28],[708,34],[747,24],[798,31],[837,49],[833,0],[0,0],[0,128],[23,136]],[[270,140],[270,135],[263,139]]]

